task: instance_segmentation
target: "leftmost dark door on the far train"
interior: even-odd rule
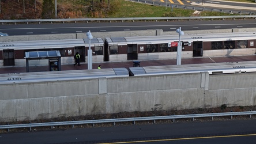
[[[3,50],[3,66],[14,66],[14,50]]]

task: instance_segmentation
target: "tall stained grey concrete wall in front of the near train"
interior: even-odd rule
[[[0,121],[256,104],[256,73],[0,85]]]

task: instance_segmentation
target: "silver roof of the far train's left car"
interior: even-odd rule
[[[101,38],[91,40],[91,46],[103,46],[104,41]],[[69,48],[76,46],[89,47],[88,39],[63,39],[63,40],[34,40],[34,41],[10,41],[0,42],[0,49],[18,48],[35,49],[35,48]]]

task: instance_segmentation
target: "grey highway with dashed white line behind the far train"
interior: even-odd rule
[[[1,25],[0,32],[12,35],[41,35],[52,33],[139,31],[163,29],[176,31],[180,26],[183,31],[204,29],[255,28],[256,20],[214,20],[214,21],[158,21],[158,22],[91,22],[65,24],[18,24]]]

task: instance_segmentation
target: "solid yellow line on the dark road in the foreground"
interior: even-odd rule
[[[248,136],[256,136],[256,134],[245,134],[245,135],[223,135],[223,136],[213,136],[213,137],[194,137],[194,138],[157,139],[157,140],[149,140],[149,141],[112,142],[112,143],[101,143],[101,144],[141,143],[141,142],[161,142],[161,141],[179,141],[179,140],[190,140],[190,139],[209,139],[209,138],[248,137]]]

